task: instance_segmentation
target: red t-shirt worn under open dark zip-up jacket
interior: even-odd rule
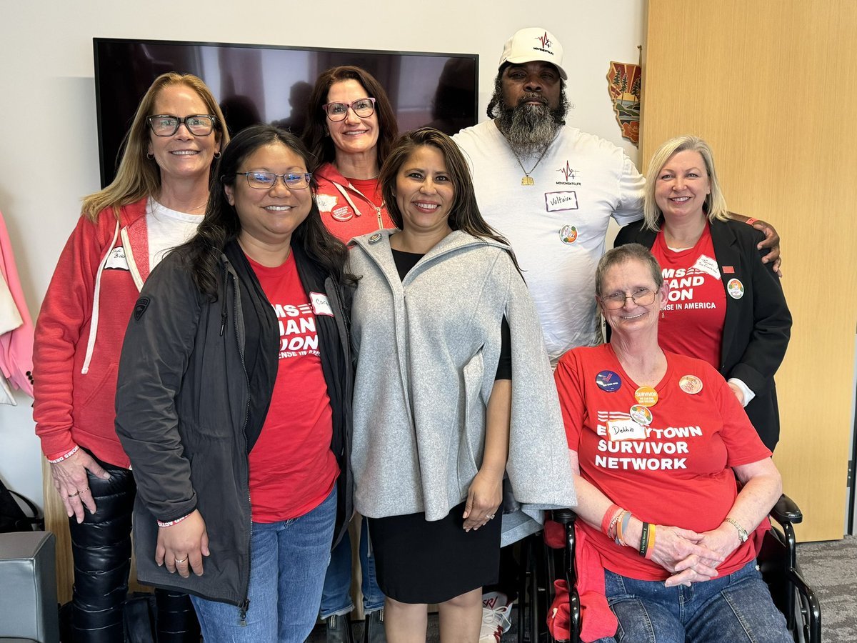
[[[261,435],[250,451],[253,520],[270,523],[318,507],[333,489],[339,466],[330,450],[332,411],[315,315],[294,255],[279,267],[248,261],[279,321],[277,380]],[[329,312],[319,309],[316,314]]]

